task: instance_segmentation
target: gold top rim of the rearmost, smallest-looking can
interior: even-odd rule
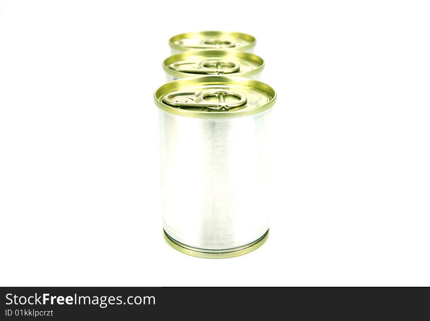
[[[207,31],[194,31],[194,32],[185,32],[180,33],[177,35],[174,35],[169,39],[169,46],[172,49],[178,50],[178,51],[187,51],[187,50],[201,50],[201,48],[195,48],[190,46],[181,46],[176,44],[177,41],[183,40],[183,39],[203,39],[204,37],[222,37],[222,36],[229,36],[234,39],[240,39],[247,42],[246,45],[241,46],[233,46],[230,48],[230,50],[249,50],[253,48],[256,45],[256,38],[254,36],[251,36],[247,33],[242,32],[236,32],[236,31],[219,31],[219,30],[207,30]]]

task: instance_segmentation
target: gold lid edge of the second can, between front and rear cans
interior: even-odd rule
[[[245,59],[245,60],[250,60],[250,61],[261,61],[261,64],[253,70],[249,70],[249,71],[245,71],[245,72],[235,72],[232,75],[237,76],[237,77],[250,77],[250,76],[254,76],[258,73],[260,73],[261,71],[263,71],[264,67],[265,67],[265,62],[264,59],[261,58],[260,56],[251,53],[251,52],[245,52],[245,51],[240,51],[240,50],[226,50],[226,49],[204,49],[204,50],[193,50],[193,51],[185,51],[185,52],[181,52],[172,56],[169,56],[168,58],[164,59],[163,61],[163,70],[170,74],[173,77],[176,78],[188,78],[188,77],[195,77],[195,75],[193,73],[187,73],[187,72],[182,72],[182,71],[177,71],[177,70],[173,70],[170,69],[168,67],[169,63],[167,62],[168,60],[181,60],[184,59],[186,60],[187,58],[191,58],[191,57],[195,57],[195,56],[199,56],[202,55],[204,53],[210,53],[211,56],[236,56],[237,59]],[[208,54],[209,55],[209,54]],[[174,58],[178,58],[178,59],[174,59]],[[179,58],[181,57],[181,58]],[[227,57],[228,58],[228,57]],[[192,76],[190,76],[192,75]],[[205,76],[219,76],[219,75],[205,75]]]

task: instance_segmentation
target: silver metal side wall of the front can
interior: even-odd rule
[[[163,223],[170,237],[223,250],[266,233],[271,113],[192,118],[159,110]]]

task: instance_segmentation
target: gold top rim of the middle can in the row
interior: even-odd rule
[[[166,73],[172,75],[176,78],[184,78],[190,77],[190,75],[194,75],[192,72],[179,71],[174,70],[170,67],[172,63],[176,63],[179,61],[187,61],[187,60],[197,60],[203,58],[220,58],[220,59],[233,59],[238,60],[239,62],[249,62],[256,67],[254,69],[239,71],[229,73],[229,75],[237,76],[237,77],[250,77],[258,74],[264,69],[265,63],[264,60],[251,52],[239,51],[239,50],[225,50],[225,49],[205,49],[205,50],[196,50],[196,51],[184,51],[175,55],[172,55],[166,58],[163,61],[163,69]],[[241,65],[241,64],[240,64]],[[205,74],[206,75],[206,74]]]

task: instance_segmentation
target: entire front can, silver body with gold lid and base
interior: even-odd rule
[[[276,92],[249,78],[183,78],[154,93],[159,108],[165,238],[224,258],[267,238],[269,120]]]

